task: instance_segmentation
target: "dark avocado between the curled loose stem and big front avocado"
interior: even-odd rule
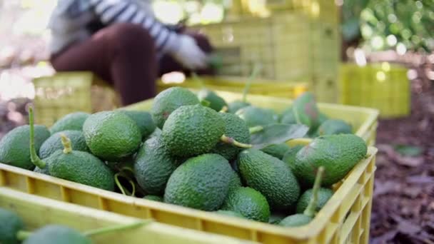
[[[138,185],[147,193],[161,195],[168,178],[181,164],[164,146],[161,137],[153,137],[143,143],[134,160],[134,176]]]

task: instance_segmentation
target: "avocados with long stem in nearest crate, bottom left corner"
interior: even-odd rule
[[[111,233],[113,231],[136,228],[145,223],[113,225],[109,227],[88,230],[80,233],[78,230],[66,225],[45,225],[34,232],[25,230],[21,217],[10,210],[0,208],[0,243],[1,244],[91,244],[91,236]]]

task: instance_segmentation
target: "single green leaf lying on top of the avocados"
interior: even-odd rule
[[[251,134],[250,142],[253,148],[261,149],[270,144],[285,143],[294,138],[306,135],[308,126],[298,124],[273,123],[263,126],[262,131]]]

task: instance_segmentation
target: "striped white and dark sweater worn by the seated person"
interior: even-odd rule
[[[178,49],[178,34],[153,16],[149,0],[59,0],[51,14],[50,52],[73,41],[84,41],[104,26],[133,23],[143,26],[155,41],[158,56]]]

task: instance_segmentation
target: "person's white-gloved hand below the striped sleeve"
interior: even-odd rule
[[[196,44],[193,37],[185,34],[179,36],[178,50],[172,56],[182,66],[191,70],[206,68],[207,66],[208,56]]]

